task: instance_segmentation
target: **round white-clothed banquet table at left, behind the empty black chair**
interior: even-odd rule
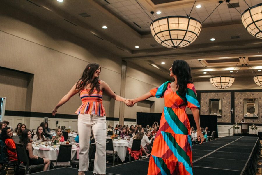
[[[49,160],[56,160],[58,156],[59,147],[56,148],[51,147],[50,150],[41,150],[39,147],[34,147],[33,155],[37,155],[38,157],[47,158]],[[79,159],[79,148],[72,146],[71,150],[71,160]]]

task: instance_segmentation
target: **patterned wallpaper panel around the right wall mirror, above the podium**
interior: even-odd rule
[[[258,118],[244,118],[244,98],[258,99]],[[262,123],[262,92],[235,92],[235,122],[244,118],[246,123]]]

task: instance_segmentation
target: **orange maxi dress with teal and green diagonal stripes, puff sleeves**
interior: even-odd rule
[[[173,92],[170,81],[150,90],[165,100],[159,130],[155,136],[148,175],[192,175],[192,142],[186,107],[200,108],[194,85],[187,84],[185,97]]]

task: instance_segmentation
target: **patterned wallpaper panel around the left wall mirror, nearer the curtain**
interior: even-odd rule
[[[230,92],[210,92],[201,93],[201,115],[209,115],[208,100],[209,99],[222,99],[222,116],[217,117],[217,122],[230,123]]]

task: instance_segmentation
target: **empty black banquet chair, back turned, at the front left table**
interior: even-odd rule
[[[71,150],[72,145],[60,145],[56,161],[51,162],[51,166],[56,167],[71,167]]]

